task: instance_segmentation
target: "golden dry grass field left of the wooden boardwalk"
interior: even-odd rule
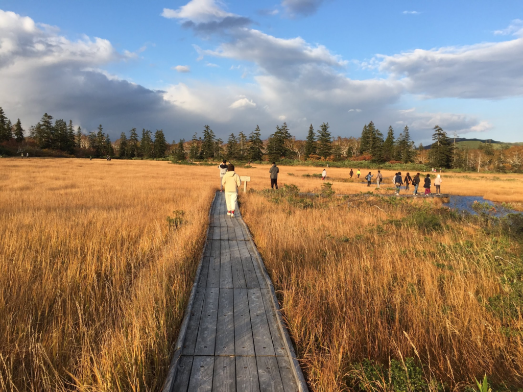
[[[0,389],[160,389],[207,227],[206,172],[1,165]]]

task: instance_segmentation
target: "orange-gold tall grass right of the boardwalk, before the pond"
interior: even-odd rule
[[[516,243],[425,202],[301,209],[273,196],[247,194],[242,214],[313,390],[391,390],[389,379],[366,381],[361,363],[407,358],[423,364],[427,385],[459,389],[486,372],[523,386],[523,319],[488,308],[509,290],[495,257],[521,263]],[[410,220],[416,209],[421,222]]]

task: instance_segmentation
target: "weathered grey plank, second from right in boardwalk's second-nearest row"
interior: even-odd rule
[[[247,289],[249,312],[253,329],[254,352],[258,355],[275,355],[272,337],[260,289]],[[203,317],[202,317],[203,319]]]

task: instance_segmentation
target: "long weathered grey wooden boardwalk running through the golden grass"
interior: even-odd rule
[[[164,392],[302,392],[307,386],[274,287],[224,193],[210,226]]]

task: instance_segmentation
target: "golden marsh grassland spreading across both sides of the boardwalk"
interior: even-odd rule
[[[485,373],[523,387],[517,225],[424,200],[303,198],[322,192],[311,167],[280,167],[270,191],[268,169],[237,167],[254,190],[241,211],[311,390],[465,390]],[[327,169],[336,194],[369,190],[348,171]],[[518,175],[443,179],[523,203]],[[0,181],[0,389],[160,390],[217,168],[2,159]]]

